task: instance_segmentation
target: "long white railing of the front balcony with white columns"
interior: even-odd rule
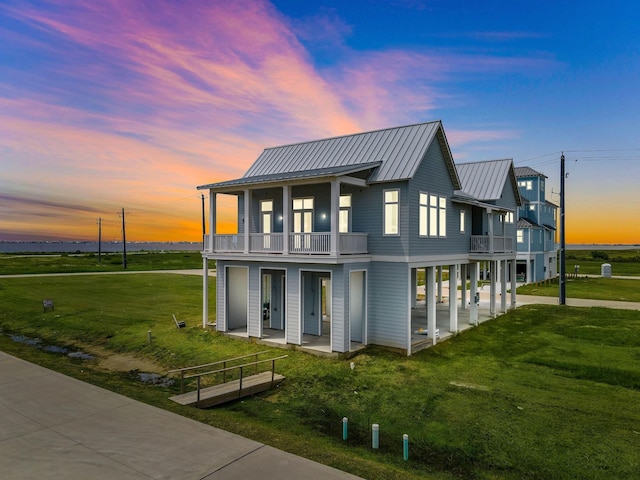
[[[213,238],[213,242],[211,238]],[[282,233],[252,233],[249,235],[249,253],[282,254],[284,253],[284,238],[285,235]],[[293,255],[330,255],[331,233],[289,233],[288,250],[288,253]],[[207,235],[205,251],[209,253],[244,252],[244,235],[241,233]],[[339,255],[367,253],[367,234],[340,233],[337,253]]]

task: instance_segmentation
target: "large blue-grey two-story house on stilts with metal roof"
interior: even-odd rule
[[[477,177],[481,165],[488,170]],[[447,330],[459,330],[460,309],[477,323],[469,300],[480,263],[491,272],[491,314],[498,297],[507,310],[508,272],[514,306],[516,231],[505,218],[521,200],[512,162],[462,172],[436,121],[268,148],[244,177],[198,187],[210,195],[203,267],[216,261],[216,329],[327,352],[375,344],[410,355],[436,342],[443,266],[449,291],[470,281],[469,297],[463,288],[449,302]],[[219,195],[237,197],[237,233],[215,231]],[[419,335],[418,270],[426,290]],[[206,326],[207,275],[203,282]]]

